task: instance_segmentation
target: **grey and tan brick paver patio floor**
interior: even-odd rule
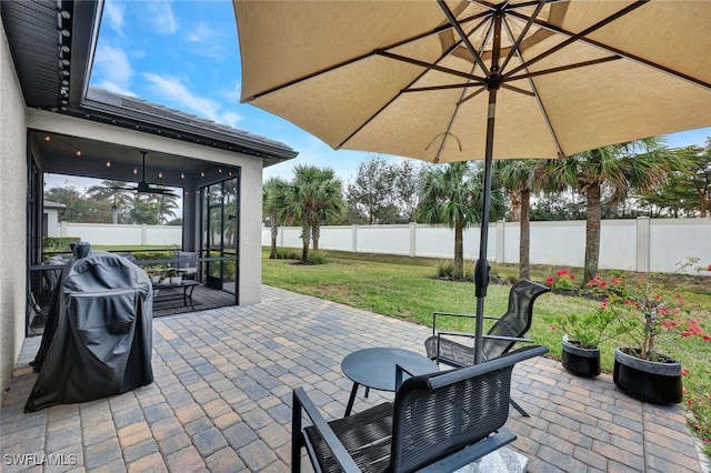
[[[153,384],[31,414],[22,412],[37,378],[28,362],[40,339],[28,339],[0,411],[0,469],[284,472],[294,386],[327,419],[342,416],[351,389],[343,356],[382,345],[423,353],[430,333],[269,286],[262,299],[156,319]],[[354,411],[391,395],[359,394]],[[530,472],[702,471],[681,407],[634,401],[609,375],[580,380],[541,358],[517,365],[512,395],[532,415],[512,410],[507,424]]]

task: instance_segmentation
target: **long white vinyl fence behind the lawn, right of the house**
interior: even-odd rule
[[[478,227],[464,231],[464,258],[479,256]],[[601,269],[673,272],[677,263],[699,258],[711,264],[711,219],[603,220],[600,229]],[[492,223],[488,258],[519,263],[520,224]],[[262,230],[262,245],[271,244],[269,228]],[[301,228],[279,229],[278,246],[301,248]],[[447,227],[404,225],[322,227],[319,248],[357,253],[399,254],[422,258],[453,258],[454,231]],[[531,264],[582,268],[585,222],[531,222]]]

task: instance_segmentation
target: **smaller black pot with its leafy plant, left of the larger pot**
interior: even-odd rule
[[[549,278],[547,283],[551,289],[558,285],[558,292],[577,294],[579,291],[572,284],[574,280],[575,274],[563,269],[555,276]],[[600,280],[593,280],[585,286],[587,292],[583,292],[598,300],[594,308],[570,313],[558,321],[563,331],[563,368],[577,376],[594,378],[600,374],[600,343],[610,338],[611,328],[617,320],[614,312],[608,308],[607,296],[599,293],[603,289],[600,284]],[[557,326],[555,330],[558,329]]]

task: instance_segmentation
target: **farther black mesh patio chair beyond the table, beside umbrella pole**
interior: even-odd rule
[[[495,320],[493,326],[483,335],[481,359],[493,360],[509,352],[517,342],[531,342],[525,333],[533,321],[533,302],[539,295],[550,292],[550,288],[532,281],[519,281],[511,286],[509,292],[509,309],[500,318],[485,316]],[[427,355],[438,364],[444,363],[454,368],[471,366],[474,364],[474,333],[448,332],[437,329],[438,318],[465,318],[473,319],[473,314],[458,314],[451,312],[434,312],[432,315],[432,336],[424,341]],[[462,343],[452,339],[464,338]],[[522,415],[529,414],[513,400],[511,405]]]

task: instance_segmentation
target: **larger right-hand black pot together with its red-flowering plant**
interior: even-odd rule
[[[674,274],[685,272],[697,261],[690,258],[679,263]],[[627,339],[627,344],[614,352],[613,381],[619,390],[640,401],[677,404],[683,391],[682,366],[672,355],[674,345],[690,338],[709,342],[711,336],[682,296],[688,279],[678,278],[679,283],[670,288],[660,278],[640,276],[609,303]]]

